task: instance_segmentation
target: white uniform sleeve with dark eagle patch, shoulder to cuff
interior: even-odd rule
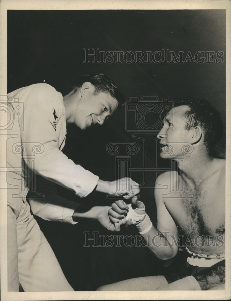
[[[25,101],[24,119],[19,119],[19,124],[24,122],[21,132],[24,160],[29,163],[34,157],[35,166],[31,168],[35,173],[74,191],[79,197],[87,196],[97,185],[98,176],[76,165],[58,148],[58,135],[52,126],[54,105],[59,102],[60,107],[58,92],[46,84],[30,87],[21,98]],[[34,146],[38,143],[41,151],[35,154]]]

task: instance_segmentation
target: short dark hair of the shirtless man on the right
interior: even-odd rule
[[[201,126],[204,131],[204,144],[211,154],[213,147],[222,137],[223,126],[220,113],[205,99],[175,99],[173,107],[188,106],[184,116],[187,119],[185,129]]]

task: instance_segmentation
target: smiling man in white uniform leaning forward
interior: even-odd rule
[[[8,291],[19,291],[19,283],[24,291],[73,291],[26,201],[28,186],[36,192],[37,175],[44,186],[49,187],[51,181],[79,197],[87,196],[94,188],[125,198],[139,193],[138,184],[130,178],[120,179],[120,186],[116,181],[102,181],[61,152],[66,123],[75,123],[80,129],[103,124],[122,102],[124,97],[112,79],[100,73],[83,76],[64,97],[47,84],[30,85],[8,94],[13,116],[7,139]],[[20,107],[23,113],[19,113]],[[118,186],[122,188],[116,191]],[[121,223],[110,222],[108,206],[78,213],[76,203],[56,197],[53,203],[46,199],[36,202],[34,198],[31,209],[42,218],[69,223],[75,223],[78,217],[98,219],[112,231],[118,231]]]

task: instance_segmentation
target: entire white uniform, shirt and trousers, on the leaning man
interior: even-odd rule
[[[32,212],[49,220],[74,224],[76,203],[47,203],[36,193],[36,174],[88,195],[98,177],[75,165],[61,149],[66,136],[61,93],[47,84],[35,84],[8,94],[11,129],[7,132],[7,263],[8,291],[73,291]],[[28,186],[35,197],[26,201]],[[36,198],[40,201],[36,201]]]

